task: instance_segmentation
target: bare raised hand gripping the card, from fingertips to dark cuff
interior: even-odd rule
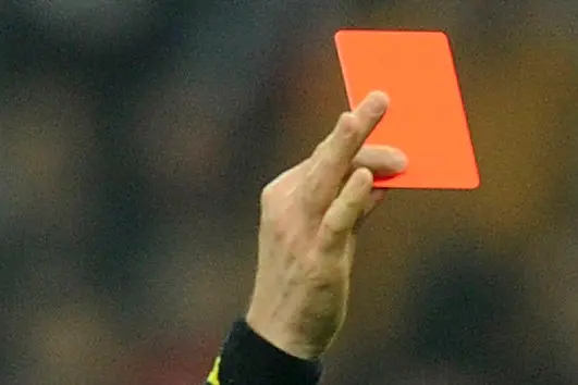
[[[258,266],[246,315],[279,349],[316,359],[346,314],[356,232],[384,198],[373,176],[403,172],[405,154],[364,146],[389,105],[373,91],[344,112],[313,153],[261,194]]]

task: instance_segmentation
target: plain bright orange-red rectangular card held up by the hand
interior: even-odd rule
[[[372,90],[391,103],[367,144],[390,145],[407,171],[376,187],[474,189],[480,178],[450,41],[438,32],[340,30],[335,35],[352,109]]]

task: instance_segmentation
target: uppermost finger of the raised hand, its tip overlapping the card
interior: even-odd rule
[[[380,91],[370,92],[351,113],[344,113],[333,132],[318,146],[310,159],[304,186],[309,209],[325,210],[337,195],[353,159],[379,123],[389,104]]]

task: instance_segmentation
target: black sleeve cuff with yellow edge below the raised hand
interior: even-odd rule
[[[320,376],[318,360],[287,355],[241,320],[233,324],[206,385],[315,385]]]

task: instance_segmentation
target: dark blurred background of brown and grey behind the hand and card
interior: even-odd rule
[[[575,0],[0,2],[0,383],[199,383],[341,27],[450,34],[482,186],[391,191],[325,384],[578,384]]]

